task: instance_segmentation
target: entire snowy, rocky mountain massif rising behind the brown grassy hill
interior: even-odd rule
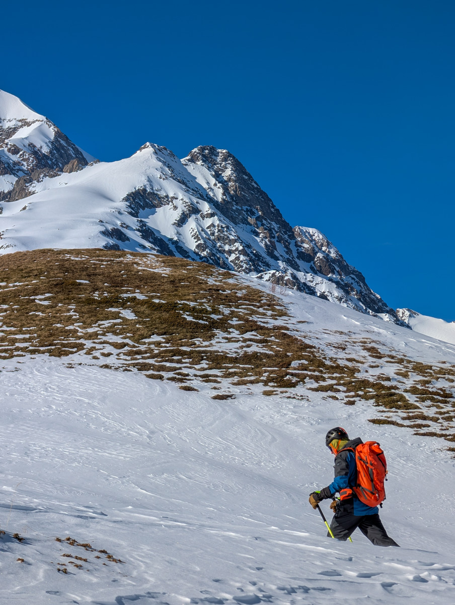
[[[225,149],[200,146],[179,160],[146,143],[130,158],[93,163],[16,97],[1,93],[0,101],[0,253],[44,247],[157,252],[404,325],[320,231],[292,228]]]

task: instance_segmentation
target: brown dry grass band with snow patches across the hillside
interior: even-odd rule
[[[292,332],[290,320],[276,296],[182,258],[102,249],[0,258],[0,359],[45,354],[68,358],[69,367],[85,359],[185,391],[226,381],[260,383],[265,395],[304,386],[395,416],[371,419],[376,424],[455,440],[453,365],[411,361],[379,341],[322,330],[337,341],[331,356]]]

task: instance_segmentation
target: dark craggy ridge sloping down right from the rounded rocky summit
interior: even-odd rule
[[[346,263],[320,231],[292,229],[228,151],[201,146],[182,163],[204,187],[217,214],[236,226],[237,232],[247,232],[260,244],[260,250],[244,245],[231,254],[229,262],[234,270],[255,273],[262,280],[400,322],[395,311],[367,286],[364,276]]]

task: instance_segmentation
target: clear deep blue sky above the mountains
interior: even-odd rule
[[[229,149],[392,307],[455,320],[455,4],[2,6],[0,88],[101,160]]]

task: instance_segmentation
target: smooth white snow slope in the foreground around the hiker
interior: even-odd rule
[[[366,406],[324,402],[321,413],[317,399],[241,388],[213,401],[208,386],[188,393],[59,359],[2,363],[5,602],[454,602],[454,461],[440,440],[372,426]],[[381,517],[401,549],[359,532],[352,544],[331,540],[308,504],[331,480],[323,437],[341,420],[386,450]],[[103,566],[54,540],[67,535],[125,563]],[[88,563],[63,575],[64,552]]]

